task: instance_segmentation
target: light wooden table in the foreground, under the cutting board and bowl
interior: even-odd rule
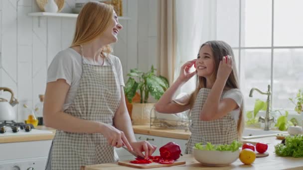
[[[275,137],[271,137],[275,140]],[[253,141],[247,141],[253,143]],[[259,138],[258,142],[263,142],[262,138]],[[281,140],[280,140],[281,142]],[[268,157],[257,158],[252,165],[244,165],[239,159],[227,167],[206,167],[197,162],[192,155],[184,155],[180,160],[186,161],[185,165],[153,168],[152,170],[302,170],[303,158],[292,157],[279,157],[274,153],[274,145],[270,144],[268,148]],[[138,170],[135,168],[129,168],[125,166],[119,166],[118,163],[99,164],[84,166],[81,170]]]

